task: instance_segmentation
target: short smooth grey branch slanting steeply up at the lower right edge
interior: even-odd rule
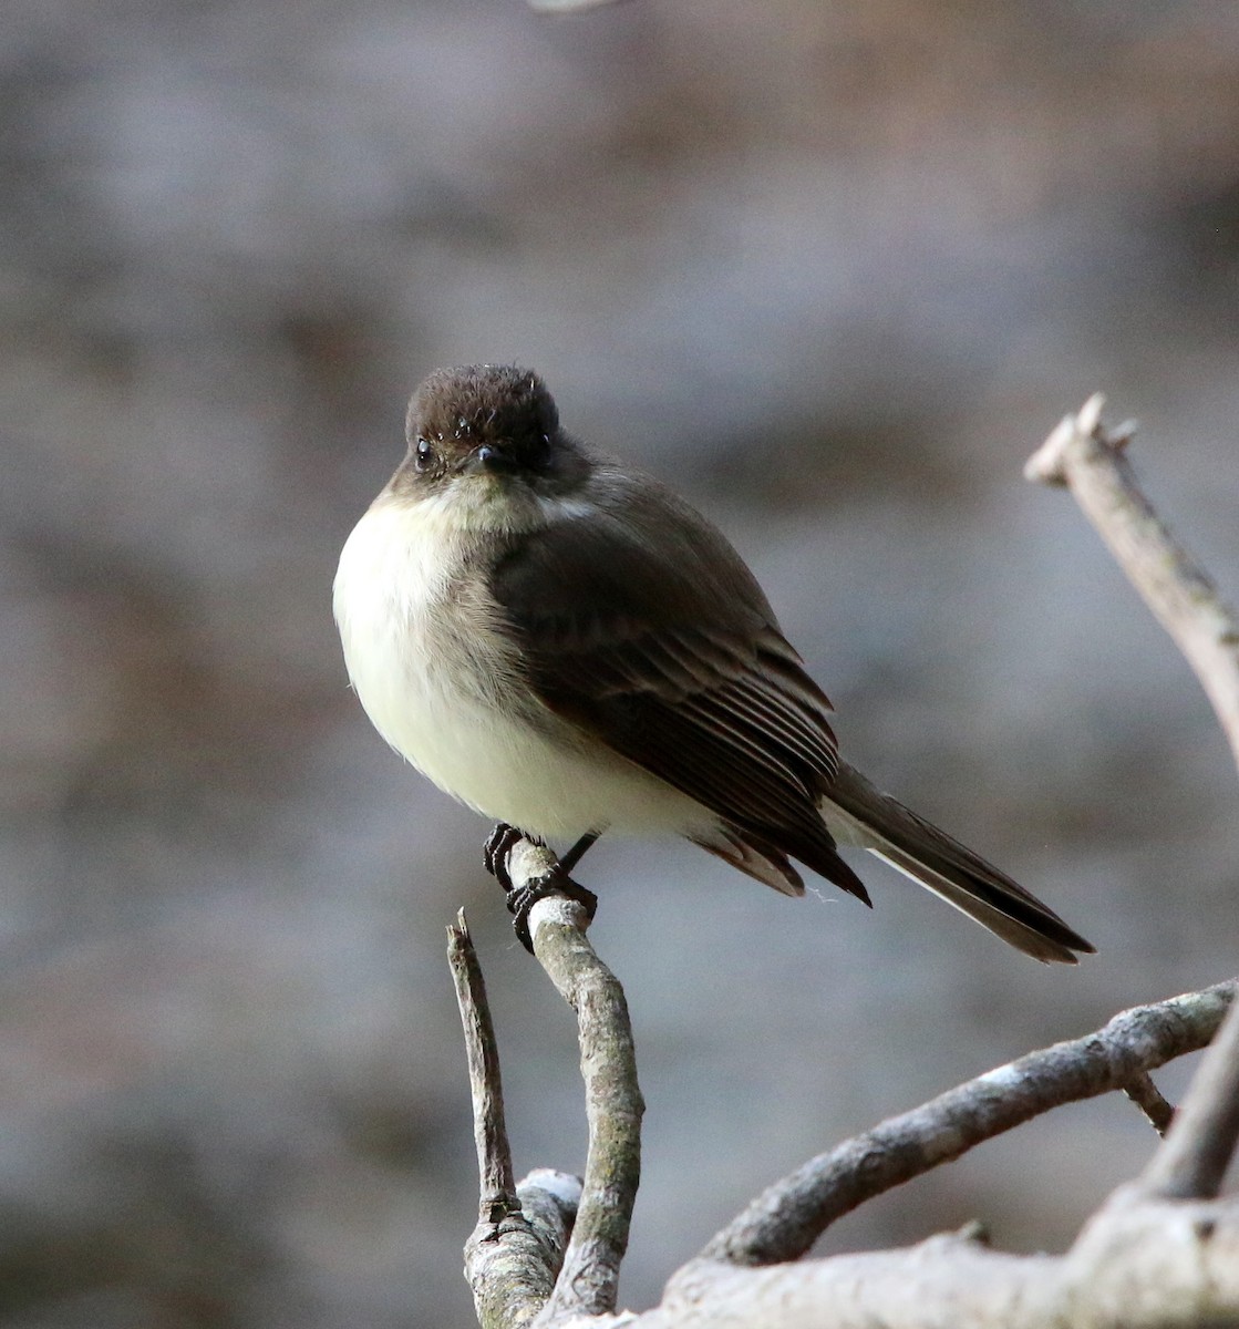
[[[1166,1199],[1210,1199],[1222,1188],[1239,1140],[1239,1003],[1231,1007],[1166,1143],[1145,1170],[1143,1187]]]

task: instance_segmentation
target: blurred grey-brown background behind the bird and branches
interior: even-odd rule
[[[1239,594],[1239,9],[1098,0],[9,0],[0,33],[0,1320],[464,1329],[444,925],[518,1167],[580,1168],[573,1022],[488,827],[346,687],[330,583],[445,363],[751,561],[844,751],[1101,948],[1026,961],[679,845],[582,880],[649,1100],[622,1300],[848,1134],[1235,971],[1235,772],[1025,457],[1097,388]],[[1171,1094],[1186,1069],[1162,1076]],[[1115,1098],[868,1205],[1062,1249]]]

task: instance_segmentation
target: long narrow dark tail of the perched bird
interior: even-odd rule
[[[875,789],[845,762],[822,811],[840,844],[860,845],[885,859],[1026,956],[1045,964],[1074,965],[1077,952],[1095,949],[1006,873]]]

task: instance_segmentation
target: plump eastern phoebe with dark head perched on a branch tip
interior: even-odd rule
[[[379,734],[500,819],[500,880],[513,828],[574,840],[565,865],[606,831],[674,832],[784,894],[795,859],[868,904],[836,848],[856,845],[1036,960],[1093,950],[839,758],[739,554],[565,433],[536,373],[439,369],[407,435],[340,554],[335,619]]]

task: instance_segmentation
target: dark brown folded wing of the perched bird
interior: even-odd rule
[[[791,855],[867,898],[818,804],[839,769],[830,702],[739,556],[651,481],[522,537],[492,594],[556,714],[714,812],[706,844],[799,890]],[[658,556],[650,538],[658,541]],[[705,841],[703,841],[705,843]]]

